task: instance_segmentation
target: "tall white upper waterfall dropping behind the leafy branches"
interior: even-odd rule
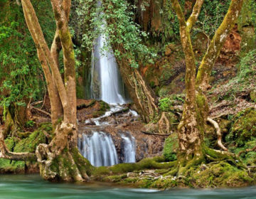
[[[100,15],[99,15],[100,17]],[[105,30],[106,21],[103,21],[101,30]],[[93,99],[102,99],[108,104],[125,104],[124,84],[117,68],[113,50],[106,49],[107,36],[100,33],[92,49],[92,81],[91,90]]]

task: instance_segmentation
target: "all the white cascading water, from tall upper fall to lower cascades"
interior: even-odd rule
[[[98,1],[97,6],[101,6]],[[102,14],[98,14],[98,19],[102,19]],[[107,36],[104,30],[107,23],[102,21],[100,27],[100,35],[95,39],[92,48],[92,68],[91,68],[91,94],[93,99],[101,99],[110,105],[110,111],[95,119],[87,119],[85,124],[90,124],[91,121],[95,126],[110,125],[105,122],[106,117],[110,117],[114,112],[125,109],[122,104],[128,102],[125,98],[124,84],[117,67],[117,61],[114,58],[114,53],[107,43]],[[134,117],[137,112],[129,110]],[[103,121],[102,121],[103,120]],[[135,139],[129,133],[121,134],[122,137],[122,154],[124,159],[122,162],[135,162]],[[87,158],[93,166],[112,166],[119,163],[117,158],[117,150],[115,149],[112,136],[103,131],[91,131],[90,134],[82,134],[78,139],[78,148],[85,158]]]

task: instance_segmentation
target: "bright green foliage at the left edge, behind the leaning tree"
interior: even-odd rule
[[[45,33],[46,41],[54,36],[55,23],[49,1],[32,1]],[[0,106],[15,102],[25,105],[28,99],[42,97],[43,72],[36,47],[26,27],[22,7],[6,1],[0,9]]]

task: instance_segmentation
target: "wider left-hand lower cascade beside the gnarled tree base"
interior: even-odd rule
[[[112,166],[118,163],[112,137],[102,131],[92,132],[92,135],[82,134],[78,139],[78,149],[93,166]]]

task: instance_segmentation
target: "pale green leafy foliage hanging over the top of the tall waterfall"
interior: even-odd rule
[[[153,63],[156,55],[151,53],[149,48],[142,43],[146,33],[139,30],[137,23],[132,21],[134,13],[132,6],[127,1],[106,0],[102,5],[95,5],[94,1],[77,0],[77,14],[79,23],[89,22],[82,34],[82,48],[91,50],[95,39],[100,33],[105,33],[107,42],[102,49],[111,50],[112,45],[123,45],[124,52],[114,51],[116,58],[127,58],[132,68],[138,68],[139,63]],[[88,15],[88,13],[90,13]]]

